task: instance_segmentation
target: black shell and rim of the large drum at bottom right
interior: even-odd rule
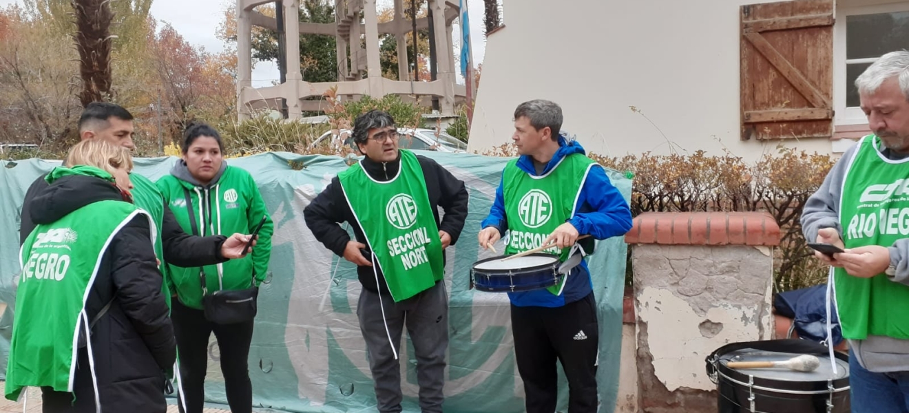
[[[753,346],[747,346],[754,344]],[[794,346],[786,349],[786,346]],[[849,397],[849,378],[814,381],[790,381],[766,379],[762,377],[749,377],[747,370],[729,369],[721,362],[712,362],[724,354],[738,348],[766,349],[770,351],[791,351],[793,353],[811,354],[820,356],[826,354],[826,347],[813,341],[803,339],[780,339],[768,341],[754,341],[752,343],[734,343],[717,349],[708,357],[707,373],[717,385],[717,411],[719,413],[751,412],[751,401],[754,395],[754,412],[761,413],[849,413],[851,403]],[[727,349],[729,348],[729,349]],[[822,352],[823,351],[823,352]],[[834,357],[848,362],[848,356],[834,353]],[[829,362],[824,359],[822,362]],[[712,373],[713,371],[713,373]],[[752,383],[749,386],[749,383]],[[828,388],[832,385],[834,391]],[[827,403],[833,393],[833,408],[827,409]]]

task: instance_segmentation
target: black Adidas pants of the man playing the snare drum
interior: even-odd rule
[[[553,413],[558,395],[556,360],[568,379],[568,412],[595,412],[598,334],[591,292],[563,307],[512,305],[514,356],[524,380],[527,413]]]

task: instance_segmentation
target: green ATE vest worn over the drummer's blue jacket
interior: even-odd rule
[[[502,192],[505,216],[508,217],[508,241],[505,254],[533,250],[555,229],[574,217],[578,196],[587,173],[596,162],[581,154],[565,156],[544,175],[534,176],[517,166],[517,159],[505,165]],[[544,252],[568,258],[570,248],[550,248]],[[565,278],[546,290],[562,294]]]

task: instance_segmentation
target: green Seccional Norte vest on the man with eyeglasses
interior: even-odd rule
[[[413,152],[400,152],[401,167],[391,181],[373,180],[359,163],[338,174],[347,203],[375,254],[373,265],[378,261],[395,301],[429,289],[445,275],[423,169]]]

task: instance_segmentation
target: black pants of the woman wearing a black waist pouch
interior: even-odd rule
[[[227,404],[232,413],[253,411],[253,384],[249,380],[249,345],[253,341],[253,323],[220,325],[205,319],[203,310],[186,307],[173,300],[176,349],[180,357],[181,413],[202,413],[205,404],[205,372],[208,368],[208,339],[215,332],[221,352],[221,373],[225,378]]]

